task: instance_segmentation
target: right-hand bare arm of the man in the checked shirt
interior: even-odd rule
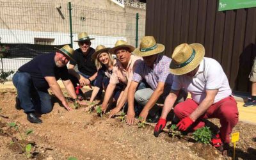
[[[143,120],[146,120],[148,116],[148,111],[156,104],[157,100],[159,97],[163,94],[164,92],[164,84],[163,82],[159,82],[157,84],[156,90],[152,93],[150,99],[148,100],[147,104],[143,108],[143,110],[140,113],[140,116],[143,118]]]

